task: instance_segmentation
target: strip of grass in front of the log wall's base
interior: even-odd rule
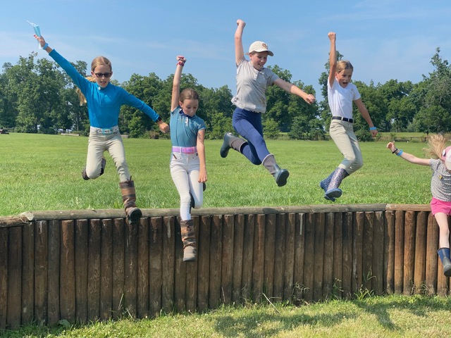
[[[57,327],[27,326],[0,337],[450,337],[445,297],[367,297],[322,303],[246,304],[206,313]]]

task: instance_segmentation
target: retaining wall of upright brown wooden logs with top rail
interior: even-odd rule
[[[183,263],[178,209],[0,218],[0,329],[221,304],[450,293],[428,205],[204,208]]]

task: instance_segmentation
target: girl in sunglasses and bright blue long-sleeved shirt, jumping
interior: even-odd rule
[[[119,111],[123,104],[140,109],[159,125],[162,132],[169,126],[161,120],[155,111],[121,87],[110,83],[113,75],[110,61],[99,56],[91,64],[91,77],[83,77],[73,65],[57,51],[51,49],[44,37],[35,38],[42,49],[66,71],[80,90],[80,102],[86,103],[89,114],[89,141],[86,168],[82,172],[85,180],[94,179],[104,173],[106,160],[104,151],[109,151],[119,174],[119,187],[123,198],[125,213],[129,223],[136,223],[141,218],[141,211],[136,207],[135,183],[125,161],[125,149],[118,128]]]

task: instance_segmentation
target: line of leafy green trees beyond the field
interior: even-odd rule
[[[342,55],[338,53],[338,58]],[[384,84],[369,84],[354,80],[362,101],[380,132],[450,132],[451,131],[451,68],[440,57],[440,49],[431,58],[432,73],[423,75],[419,83],[389,80]],[[76,61],[75,68],[88,75],[87,63]],[[316,95],[311,85],[293,81],[288,70],[278,65],[271,68],[287,82],[304,92]],[[266,92],[267,111],[263,115],[266,137],[285,132],[292,139],[321,139],[330,123],[327,102],[328,62],[319,77],[323,101],[308,105],[298,96],[290,95],[277,86]],[[133,74],[130,80],[113,84],[137,96],[169,120],[173,75],[161,80],[155,73],[147,76]],[[191,74],[184,74],[181,89],[192,87],[199,92],[197,115],[205,120],[206,138],[221,139],[232,130],[232,92],[228,86],[206,88]],[[371,139],[368,126],[354,105],[354,132],[360,140]],[[154,137],[159,134],[144,113],[123,106],[119,115],[123,134],[130,137]],[[0,73],[0,127],[15,132],[56,134],[73,130],[88,134],[87,107],[80,106],[75,85],[70,77],[53,61],[37,58],[33,52],[20,56],[16,65],[4,63]],[[167,136],[166,136],[167,137]]]

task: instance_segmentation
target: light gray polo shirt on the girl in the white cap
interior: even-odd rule
[[[237,65],[237,94],[232,103],[238,108],[264,113],[266,111],[266,88],[279,77],[272,70],[255,69],[250,61],[242,58]]]

